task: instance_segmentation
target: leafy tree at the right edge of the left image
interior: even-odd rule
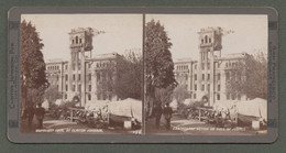
[[[114,94],[120,99],[142,99],[142,55],[134,50],[119,56],[116,64],[102,69],[105,79],[98,84],[98,92]]]

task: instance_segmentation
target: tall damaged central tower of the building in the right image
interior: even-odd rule
[[[216,87],[216,57],[221,57],[221,28],[201,29],[199,34],[198,98],[212,106]]]

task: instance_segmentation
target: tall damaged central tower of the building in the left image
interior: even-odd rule
[[[69,34],[70,63],[68,69],[69,97],[86,103],[86,58],[91,57],[94,30],[73,29]]]

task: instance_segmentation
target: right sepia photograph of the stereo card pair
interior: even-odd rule
[[[146,134],[267,134],[267,15],[146,14]]]

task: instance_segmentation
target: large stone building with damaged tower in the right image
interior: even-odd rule
[[[190,98],[206,100],[209,106],[221,101],[246,100],[240,92],[230,92],[227,84],[232,77],[244,79],[243,74],[234,73],[246,53],[221,55],[222,30],[201,29],[199,34],[199,59],[183,58],[175,62],[175,76],[179,85],[186,86]]]

